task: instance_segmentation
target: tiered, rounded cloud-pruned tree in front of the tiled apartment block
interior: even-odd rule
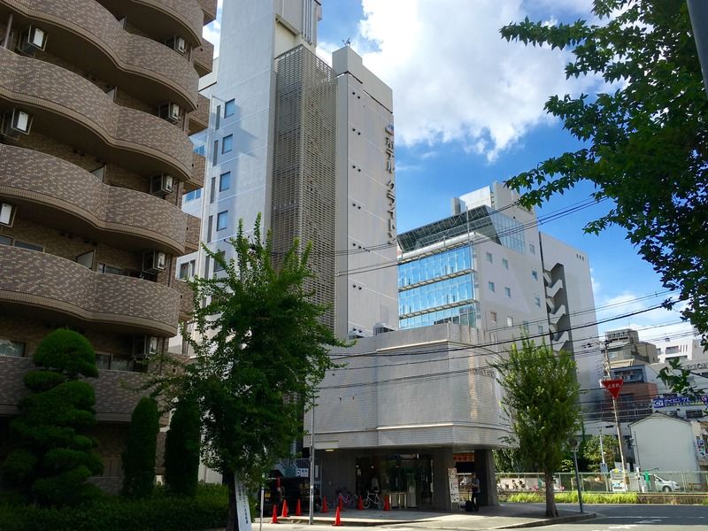
[[[81,504],[99,495],[89,477],[103,471],[96,440],[96,396],[85,378],[96,378],[96,353],[77,332],[47,335],[33,356],[36,369],[25,374],[29,394],[19,403],[10,427],[15,450],[5,459],[6,483],[26,501],[46,506]]]

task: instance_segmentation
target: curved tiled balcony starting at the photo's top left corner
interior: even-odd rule
[[[196,108],[199,80],[189,59],[160,42],[128,33],[94,0],[0,0],[0,4],[41,22],[51,35],[49,50],[71,57],[85,71],[130,88],[144,101],[157,105],[169,99],[188,111]],[[81,54],[75,53],[77,48]]]

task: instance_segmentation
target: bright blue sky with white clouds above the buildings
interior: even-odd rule
[[[220,4],[220,1],[219,1]],[[450,198],[504,181],[544,158],[578,147],[543,112],[551,94],[590,92],[594,79],[566,81],[567,50],[503,41],[498,30],[525,16],[535,20],[592,19],[591,0],[322,0],[323,58],[350,39],[365,65],[394,91],[399,232],[450,214]],[[205,35],[213,40],[218,26]],[[583,185],[553,198],[539,216],[586,200]],[[585,235],[603,214],[593,206],[544,224],[541,230],[589,255],[599,319],[658,304],[666,294],[624,232]],[[601,326],[635,327],[647,340],[689,330],[677,312],[643,313]],[[667,325],[666,327],[660,327]],[[660,342],[659,342],[660,344]]]

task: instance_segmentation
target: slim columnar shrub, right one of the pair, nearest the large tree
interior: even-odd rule
[[[196,495],[201,423],[196,402],[177,403],[165,438],[165,483],[173,494]]]

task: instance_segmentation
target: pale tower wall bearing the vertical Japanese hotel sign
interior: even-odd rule
[[[396,267],[381,267],[396,263],[392,94],[349,47],[335,51],[333,67],[339,76],[336,331],[372,335],[376,323],[398,324]]]

